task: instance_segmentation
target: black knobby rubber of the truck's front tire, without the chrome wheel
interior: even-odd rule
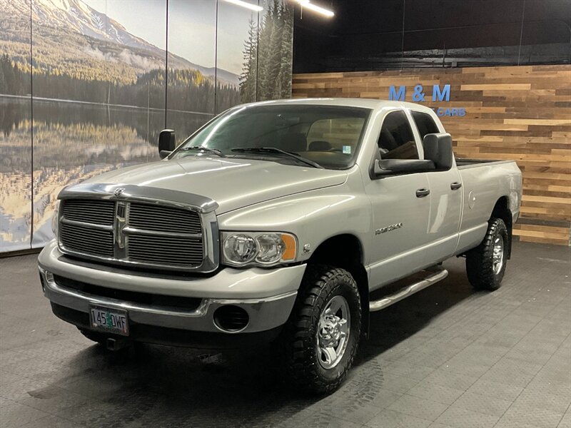
[[[318,361],[318,324],[325,305],[335,295],[348,303],[350,326],[343,357],[335,367],[325,369]],[[308,265],[295,305],[283,329],[279,350],[288,379],[310,392],[337,389],[357,353],[361,330],[361,307],[357,283],[346,270],[325,265]]]

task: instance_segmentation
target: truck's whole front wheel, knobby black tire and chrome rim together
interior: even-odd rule
[[[290,378],[313,392],[336,389],[353,364],[360,330],[359,291],[350,273],[308,265],[281,337]]]

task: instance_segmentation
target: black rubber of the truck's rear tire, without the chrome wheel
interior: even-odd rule
[[[494,272],[494,243],[497,238],[503,240],[503,263],[499,272]],[[504,220],[491,218],[482,243],[466,253],[466,273],[470,284],[477,290],[497,290],[502,285],[507,263],[507,248],[510,236]]]

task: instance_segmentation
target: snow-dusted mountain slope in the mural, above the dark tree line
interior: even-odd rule
[[[10,53],[9,47],[15,47],[14,59],[25,63],[29,60],[29,23],[26,29],[22,25],[23,16],[30,16],[30,0],[0,0],[0,54]],[[36,66],[41,70],[131,83],[141,73],[165,65],[164,49],[129,33],[120,23],[84,1],[34,0],[31,18],[33,48],[41,55]],[[113,66],[103,71],[105,63]],[[98,67],[101,67],[99,72]],[[213,67],[170,53],[168,67],[197,70],[210,78],[215,75]],[[224,83],[238,85],[235,73],[218,68],[217,75]]]

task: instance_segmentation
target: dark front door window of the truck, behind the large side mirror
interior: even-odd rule
[[[404,111],[385,116],[378,141],[382,159],[418,159],[413,130]]]

